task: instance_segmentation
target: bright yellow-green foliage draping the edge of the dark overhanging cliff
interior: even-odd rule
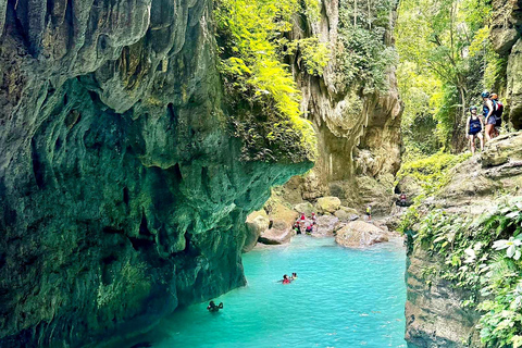
[[[316,157],[311,124],[300,117],[299,90],[279,55],[282,35],[291,29],[291,16],[300,9],[298,0],[215,2],[220,71],[236,115],[234,134],[244,141],[243,160]]]

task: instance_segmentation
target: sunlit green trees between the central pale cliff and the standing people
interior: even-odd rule
[[[406,103],[406,150],[411,157],[433,153],[435,146],[460,150],[467,144],[468,108],[482,103],[480,91],[492,89],[501,76],[501,64],[488,39],[492,4],[401,0],[398,12],[397,77]],[[428,124],[428,119],[437,126],[426,134],[426,147],[412,133],[418,132],[418,120]]]

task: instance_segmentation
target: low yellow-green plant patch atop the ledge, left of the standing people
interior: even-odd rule
[[[465,161],[471,153],[451,154],[437,152],[431,157],[405,163],[397,173],[397,179],[411,176],[420,183],[425,195],[436,192],[449,181],[449,171]]]

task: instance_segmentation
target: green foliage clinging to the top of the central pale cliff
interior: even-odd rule
[[[386,72],[395,65],[395,48],[386,46],[385,33],[394,1],[339,1],[336,86],[346,90],[362,85],[363,94],[387,91]]]

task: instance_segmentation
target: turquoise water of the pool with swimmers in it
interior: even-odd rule
[[[215,299],[222,311],[200,303],[176,312],[152,347],[406,347],[400,245],[348,250],[298,236],[245,254],[244,265],[248,285]],[[297,281],[277,283],[291,272]]]

